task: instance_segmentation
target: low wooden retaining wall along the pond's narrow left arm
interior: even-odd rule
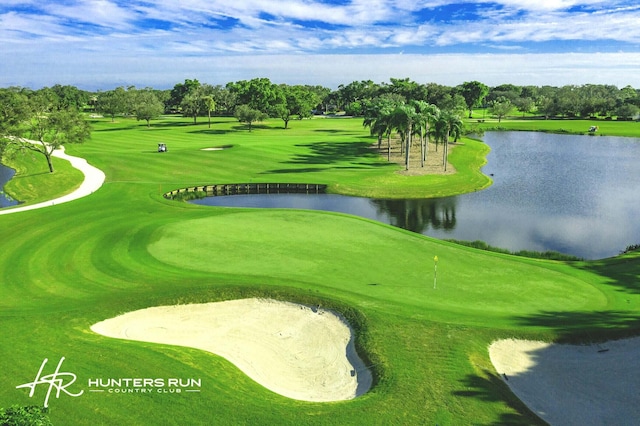
[[[324,194],[327,185],[317,183],[224,183],[191,186],[166,192],[165,198],[172,199],[185,192],[204,192],[207,197],[235,194]]]

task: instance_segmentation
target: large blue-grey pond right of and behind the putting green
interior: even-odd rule
[[[640,243],[640,140],[490,132],[486,190],[455,197],[383,200],[333,194],[232,195],[197,204],[338,211],[440,239],[481,240],[512,251],[585,259]]]

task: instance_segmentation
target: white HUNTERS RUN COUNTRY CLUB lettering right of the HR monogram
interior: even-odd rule
[[[200,392],[200,379],[120,378],[89,379],[89,392],[109,393],[182,393]]]

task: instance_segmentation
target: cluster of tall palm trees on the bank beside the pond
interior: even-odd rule
[[[378,149],[383,138],[387,139],[387,160],[391,160],[391,135],[400,137],[401,153],[405,156],[405,168],[409,170],[409,159],[414,137],[420,142],[420,167],[424,167],[429,152],[429,143],[433,139],[435,150],[442,144],[442,165],[447,170],[449,139],[457,142],[462,134],[463,122],[455,111],[441,110],[425,101],[397,102],[389,98],[378,98],[365,110],[365,127],[371,135],[378,137]]]

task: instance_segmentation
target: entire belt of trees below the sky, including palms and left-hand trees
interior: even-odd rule
[[[461,116],[467,114],[472,118],[477,108],[483,108],[499,120],[514,110],[523,116],[536,114],[544,118],[630,120],[638,117],[640,90],[596,84],[488,87],[479,81],[451,87],[421,84],[409,78],[391,78],[383,83],[353,81],[335,90],[275,84],[268,78],[226,85],[186,79],[166,90],[121,86],[89,92],[69,85],[38,90],[8,87],[0,88],[0,158],[9,146],[36,151],[46,157],[53,171],[51,154],[55,149],[89,137],[90,127],[83,112],[101,114],[112,120],[116,116],[135,117],[148,126],[162,114],[182,114],[193,118],[194,124],[198,118],[207,117],[209,126],[212,115],[226,115],[235,116],[251,130],[253,123],[266,117],[283,120],[287,128],[292,119],[344,111],[347,115],[363,117],[364,125],[378,136],[379,144],[383,137],[389,138],[391,131],[397,131],[403,149],[406,148],[407,167],[413,136],[419,136],[423,156],[428,151],[429,137],[434,137],[436,147],[438,142],[443,142],[446,167],[446,141],[451,136],[457,138],[461,132]]]

